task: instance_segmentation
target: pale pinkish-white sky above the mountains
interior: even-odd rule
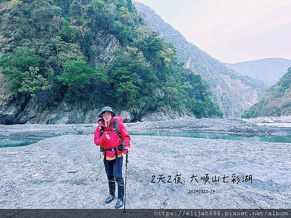
[[[291,60],[291,0],[136,0],[213,58]]]

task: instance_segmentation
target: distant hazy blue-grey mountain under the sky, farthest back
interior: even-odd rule
[[[225,64],[236,72],[251,78],[257,78],[271,87],[286,73],[291,66],[291,60],[265,58],[249,62]]]

